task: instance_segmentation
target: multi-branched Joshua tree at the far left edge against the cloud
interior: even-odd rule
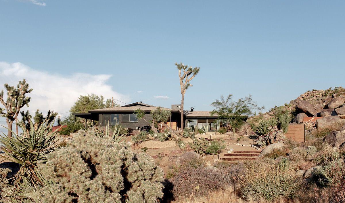
[[[12,137],[12,124],[13,121],[16,120],[20,109],[27,105],[29,106],[29,102],[31,97],[27,97],[26,94],[30,93],[32,89],[29,89],[29,84],[26,83],[26,80],[23,79],[19,81],[17,87],[9,86],[7,83],[4,85],[7,90],[7,98],[4,99],[3,95],[4,92],[1,90],[0,92],[0,103],[4,105],[5,108],[0,108],[1,117],[6,118],[7,128],[8,128],[8,137]],[[6,109],[6,113],[4,110]]]

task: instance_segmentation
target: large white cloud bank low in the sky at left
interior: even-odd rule
[[[128,96],[117,93],[112,90],[111,86],[105,84],[110,77],[111,75],[83,73],[62,76],[34,70],[20,62],[13,64],[0,62],[0,85],[2,86],[0,91],[4,89],[4,83],[17,86],[18,81],[22,79],[26,79],[29,88],[33,89],[31,93],[27,94],[31,97],[29,103],[31,115],[34,114],[36,109],[40,109],[42,113],[47,112],[49,109],[58,113],[68,112],[80,95],[91,93],[99,96],[103,95],[106,99],[114,97],[114,99],[129,103],[130,98]],[[23,107],[23,110],[25,109],[28,109],[28,107]],[[63,114],[61,117],[64,116],[68,116],[68,113]],[[6,122],[0,124],[6,125]]]

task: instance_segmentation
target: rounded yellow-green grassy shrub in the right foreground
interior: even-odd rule
[[[302,188],[303,179],[291,168],[279,165],[249,168],[243,179],[242,194],[245,199],[264,198],[273,201],[281,197],[292,199]]]

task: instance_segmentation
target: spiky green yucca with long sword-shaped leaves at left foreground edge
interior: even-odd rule
[[[54,184],[50,180],[45,180],[37,169],[39,162],[45,163],[47,155],[59,147],[57,130],[51,132],[54,122],[47,120],[37,129],[30,120],[30,131],[23,135],[8,138],[5,134],[0,137],[0,141],[5,146],[2,148],[6,156],[0,155],[11,162],[20,164],[20,170],[16,174],[14,185],[6,194],[11,202],[20,202],[25,199],[23,193],[28,187],[40,187]],[[23,128],[21,124],[20,127]]]

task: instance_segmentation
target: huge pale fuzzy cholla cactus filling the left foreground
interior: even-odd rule
[[[33,202],[157,202],[163,196],[163,171],[145,153],[110,137],[79,131],[66,147],[48,155],[39,170],[53,186],[31,188]]]

